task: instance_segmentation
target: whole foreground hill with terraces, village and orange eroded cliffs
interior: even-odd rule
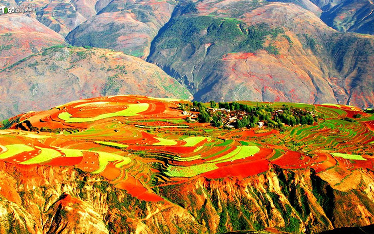
[[[3,121],[1,232],[312,234],[373,224],[370,110],[206,106],[120,95]],[[206,113],[238,128],[193,121]],[[264,126],[240,127],[253,117]]]

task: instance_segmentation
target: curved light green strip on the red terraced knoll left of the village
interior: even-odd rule
[[[68,112],[60,113],[58,115],[58,118],[65,120],[67,123],[82,123],[82,122],[93,122],[104,118],[110,118],[110,117],[117,117],[117,116],[124,116],[124,117],[130,117],[130,116],[137,116],[137,113],[146,111],[149,107],[148,103],[138,103],[138,104],[130,104],[129,107],[122,111],[117,111],[113,113],[106,113],[102,115],[98,115],[91,118],[76,118],[71,117],[72,115]]]

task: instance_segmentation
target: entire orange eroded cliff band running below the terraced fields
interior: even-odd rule
[[[339,188],[309,170],[200,177],[161,187],[166,201],[146,202],[73,168],[4,162],[0,168],[1,233],[318,233],[374,222],[374,174],[365,170],[357,171],[355,187]]]

